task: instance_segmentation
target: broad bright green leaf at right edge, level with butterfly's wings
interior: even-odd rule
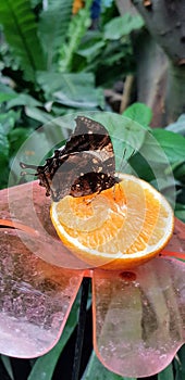
[[[165,129],[152,129],[152,135],[165,152],[171,164],[184,160],[185,138]]]

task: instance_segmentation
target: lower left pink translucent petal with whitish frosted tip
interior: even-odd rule
[[[0,230],[0,352],[35,357],[59,340],[83,271],[37,258],[16,236]]]

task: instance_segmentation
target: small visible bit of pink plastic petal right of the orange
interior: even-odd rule
[[[163,256],[185,259],[185,223],[175,218],[173,237],[162,252]]]

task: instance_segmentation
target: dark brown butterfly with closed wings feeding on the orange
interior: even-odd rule
[[[55,202],[67,194],[100,193],[120,181],[115,177],[114,152],[108,130],[86,116],[77,116],[75,122],[74,132],[65,145],[57,149],[45,165],[21,163],[24,169],[36,169],[39,185]]]

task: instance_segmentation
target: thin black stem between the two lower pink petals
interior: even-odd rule
[[[81,295],[79,317],[78,317],[78,325],[77,325],[77,335],[76,335],[76,344],[75,344],[75,353],[74,353],[74,362],[73,362],[72,380],[79,379],[89,282],[90,282],[90,279],[87,277],[85,277],[82,282],[82,295]]]

